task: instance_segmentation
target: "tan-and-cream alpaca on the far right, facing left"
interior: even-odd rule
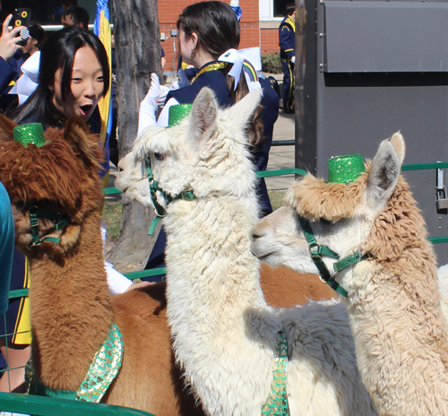
[[[340,258],[370,253],[336,274],[349,292],[344,303],[363,382],[382,415],[446,416],[447,326],[425,222],[400,176],[404,153],[401,134],[394,134],[351,184],[312,175],[297,181],[289,206],[254,227],[252,250],[268,264],[315,273],[301,216],[317,242]],[[334,275],[335,260],[324,262]],[[446,292],[446,279],[440,287]]]

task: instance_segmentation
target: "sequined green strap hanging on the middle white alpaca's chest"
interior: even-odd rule
[[[271,394],[264,404],[264,416],[289,416],[288,392],[286,381],[288,375],[288,341],[283,331],[277,336],[277,351],[275,351],[276,368],[273,371]]]

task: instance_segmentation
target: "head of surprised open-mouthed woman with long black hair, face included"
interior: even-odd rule
[[[109,83],[108,56],[98,37],[76,27],[58,30],[40,51],[38,88],[13,110],[13,121],[62,128],[76,115],[99,133],[97,104]]]

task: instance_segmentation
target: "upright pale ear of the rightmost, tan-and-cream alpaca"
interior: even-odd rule
[[[367,198],[369,204],[379,210],[383,210],[397,185],[404,153],[404,139],[396,133],[391,141],[383,140],[375,154],[368,176]]]

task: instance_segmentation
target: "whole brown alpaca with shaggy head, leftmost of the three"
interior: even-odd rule
[[[102,402],[158,416],[203,414],[174,364],[165,283],[113,298],[108,293],[99,229],[97,138],[72,119],[64,132],[47,129],[43,147],[30,144],[25,149],[13,140],[14,126],[0,116],[0,181],[13,204],[16,245],[30,259],[36,377],[52,389],[77,390],[115,323],[123,335],[124,359]],[[31,235],[25,204],[68,215],[70,225],[60,231],[53,221],[39,218],[39,235],[61,238],[59,244],[27,248]],[[296,282],[276,279],[272,284],[274,277],[267,270],[263,284],[269,286],[275,306],[281,306],[281,293],[289,294],[286,306],[302,303],[300,296],[294,300]],[[314,290],[306,296],[314,298]]]

